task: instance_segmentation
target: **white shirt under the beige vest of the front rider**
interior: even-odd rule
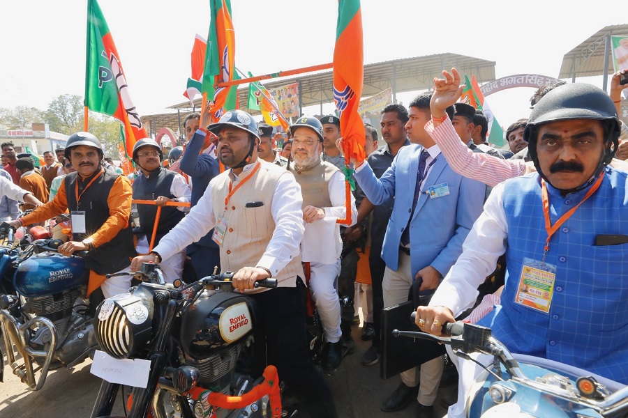
[[[252,169],[256,163],[257,160],[246,165],[242,174]],[[239,180],[238,176],[232,170],[229,176],[235,187]],[[302,204],[301,186],[294,180],[294,176],[286,171],[279,177],[273,193],[271,215],[275,221],[275,231],[260,261],[250,267],[267,268],[275,276],[292,258],[299,255],[304,233]],[[154,250],[165,260],[192,242],[200,240],[216,225],[216,214],[212,207],[211,193],[204,193],[190,213],[161,238]]]

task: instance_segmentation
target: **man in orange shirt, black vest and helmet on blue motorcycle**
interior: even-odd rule
[[[91,298],[95,308],[103,294],[111,297],[130,287],[130,276],[106,279],[105,274],[126,270],[136,254],[129,222],[133,190],[128,178],[103,169],[103,146],[93,134],[71,135],[65,154],[76,171],[63,178],[52,201],[11,224],[43,222],[69,209],[72,239],[59,247],[59,253],[71,256],[74,251],[89,251],[85,258],[90,270],[87,295],[102,291]]]

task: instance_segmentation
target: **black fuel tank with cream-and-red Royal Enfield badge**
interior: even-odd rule
[[[181,346],[202,359],[248,335],[255,323],[255,301],[239,293],[204,291],[181,322]]]

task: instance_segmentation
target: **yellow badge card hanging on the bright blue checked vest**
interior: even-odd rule
[[[556,268],[529,258],[524,259],[523,263],[515,302],[547,314],[554,294]]]

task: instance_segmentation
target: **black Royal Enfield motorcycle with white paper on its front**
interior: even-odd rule
[[[232,272],[184,285],[147,283],[158,265],[144,263],[142,283],[103,301],[96,309],[97,353],[92,373],[103,377],[91,417],[108,417],[119,389],[133,387],[128,417],[279,417],[280,385],[274,366],[254,380],[239,373],[239,359],[253,345],[255,300],[234,293]],[[255,287],[276,287],[275,279]],[[103,362],[96,362],[96,358]],[[132,361],[129,363],[130,359]],[[141,381],[130,376],[134,362],[146,363]],[[268,409],[270,407],[270,410]]]

